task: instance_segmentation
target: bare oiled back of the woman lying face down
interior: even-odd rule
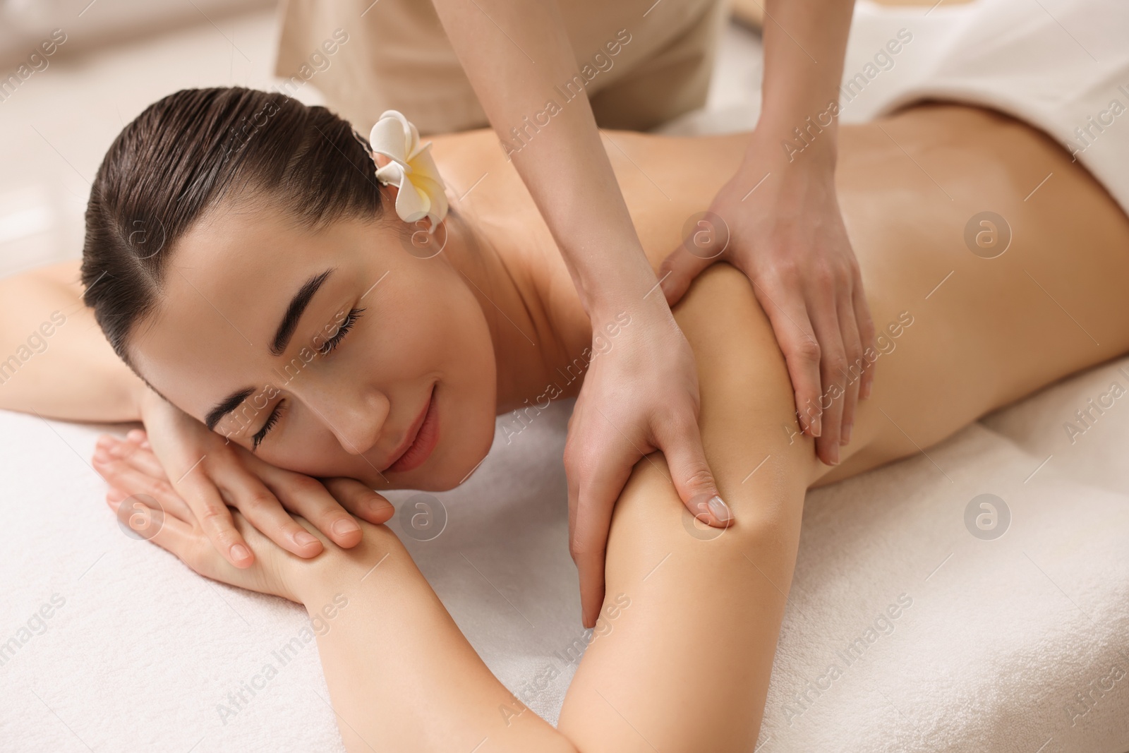
[[[606,134],[656,269],[733,174],[746,139]],[[525,256],[583,319],[579,304],[569,303],[575,295],[560,254],[492,133],[443,137],[435,151],[457,195],[478,183],[461,208],[492,234],[499,253]],[[843,126],[838,187],[885,339],[875,397],[859,405],[843,462],[830,469],[814,461],[813,482],[928,447],[995,408],[1129,351],[1129,297],[1119,294],[1129,280],[1129,220],[1041,132],[974,107],[912,107]],[[706,295],[702,287],[691,289],[686,305]],[[698,339],[741,336],[749,323],[724,315],[730,303],[711,296],[718,332]],[[758,315],[752,326],[767,327],[763,310]],[[728,367],[700,364],[710,368]],[[916,429],[910,436],[908,426]]]

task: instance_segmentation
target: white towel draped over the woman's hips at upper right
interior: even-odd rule
[[[1129,2],[858,0],[839,99],[843,123],[925,99],[998,110],[1056,139],[1129,213]],[[759,102],[697,111],[657,132],[730,133],[759,115]]]

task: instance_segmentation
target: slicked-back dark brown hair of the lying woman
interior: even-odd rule
[[[325,107],[242,87],[183,89],[114,139],[90,189],[82,300],[117,356],[156,307],[169,252],[228,192],[277,202],[305,227],[376,217],[368,142]]]

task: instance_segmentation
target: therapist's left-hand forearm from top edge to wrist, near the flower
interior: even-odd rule
[[[499,138],[560,112],[510,158],[564,257],[585,309],[641,299],[655,275],[596,129],[587,96],[554,89],[578,75],[555,2],[435,0],[443,25]],[[504,30],[502,30],[504,29]],[[531,60],[532,58],[532,60]],[[662,296],[650,296],[651,300]]]

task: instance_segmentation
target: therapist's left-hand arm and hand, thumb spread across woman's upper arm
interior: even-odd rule
[[[693,353],[655,287],[587,97],[564,102],[554,90],[579,72],[557,3],[434,1],[502,140],[513,141],[510,129],[543,112],[548,99],[560,105],[510,158],[561,249],[593,327],[622,313],[631,317],[615,347],[593,360],[564,450],[569,544],[580,575],[583,621],[592,627],[603,602],[612,508],[644,454],[663,450],[679,496],[701,519],[725,525],[729,517],[718,504],[698,430]],[[706,505],[710,499],[717,500],[712,507]]]

